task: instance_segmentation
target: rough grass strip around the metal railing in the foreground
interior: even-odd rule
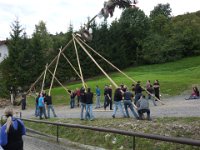
[[[148,134],[157,134],[170,137],[185,137],[200,140],[199,134],[199,117],[164,117],[157,118],[153,121],[136,121],[130,118],[115,118],[115,119],[96,119],[94,121],[80,121],[80,119],[50,119],[51,122],[62,122],[68,124],[81,124],[87,126],[103,127],[106,129],[119,129],[131,132],[142,132]],[[56,127],[44,124],[35,124],[25,122],[26,127],[35,129],[37,131],[56,135]],[[129,136],[60,127],[59,137],[66,138],[70,141],[88,144],[106,149],[132,149],[133,139]],[[113,141],[116,140],[116,143]],[[188,145],[173,144],[162,142],[158,140],[150,140],[136,137],[136,149],[142,150],[197,150],[199,147],[192,147]]]

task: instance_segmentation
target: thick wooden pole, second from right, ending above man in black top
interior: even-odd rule
[[[79,42],[79,40],[73,35],[74,39],[77,43],[82,47],[85,53],[90,57],[90,59],[96,64],[96,66],[103,72],[103,74],[110,80],[110,82],[117,88],[118,85],[109,77],[109,75],[99,66],[99,64],[95,61],[95,59],[90,55],[90,53],[85,49],[85,47]]]

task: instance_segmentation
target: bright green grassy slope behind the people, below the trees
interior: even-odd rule
[[[157,79],[160,82],[161,94],[174,96],[191,89],[193,85],[200,84],[200,56],[165,64],[132,67],[123,71],[135,81],[141,81],[143,86],[145,86],[146,80],[151,80],[151,83],[153,83]],[[124,83],[129,88],[131,87],[132,81],[124,75],[120,73],[111,73],[109,75],[118,85]],[[86,83],[92,88],[92,91],[95,91],[95,86],[99,85],[103,92],[104,85],[110,84],[110,81],[102,75],[88,79]],[[76,89],[81,87],[81,82],[70,83],[65,86],[68,89]],[[52,96],[55,105],[69,104],[69,95],[62,87],[53,88]],[[32,101],[34,100],[29,99],[30,105],[34,104]]]

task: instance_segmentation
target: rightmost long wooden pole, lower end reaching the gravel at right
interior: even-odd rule
[[[131,80],[134,83],[137,83],[134,79],[132,79],[130,76],[125,74],[123,71],[121,71],[119,68],[117,68],[115,65],[113,65],[110,61],[108,61],[105,57],[103,57],[101,54],[99,54],[97,51],[95,51],[92,47],[90,47],[88,44],[86,44],[83,40],[79,38],[79,40],[86,45],[89,49],[91,49],[95,54],[97,54],[99,57],[101,57],[103,60],[105,60],[108,64],[110,64],[113,68],[115,68],[117,71],[119,71],[121,74],[123,74],[125,77],[127,77],[129,80]],[[142,87],[148,94],[150,94],[152,97],[154,97],[156,100],[158,100],[161,104],[164,105],[164,103],[159,100],[157,97],[155,97],[153,94],[151,94],[149,91],[146,90],[146,88]]]

